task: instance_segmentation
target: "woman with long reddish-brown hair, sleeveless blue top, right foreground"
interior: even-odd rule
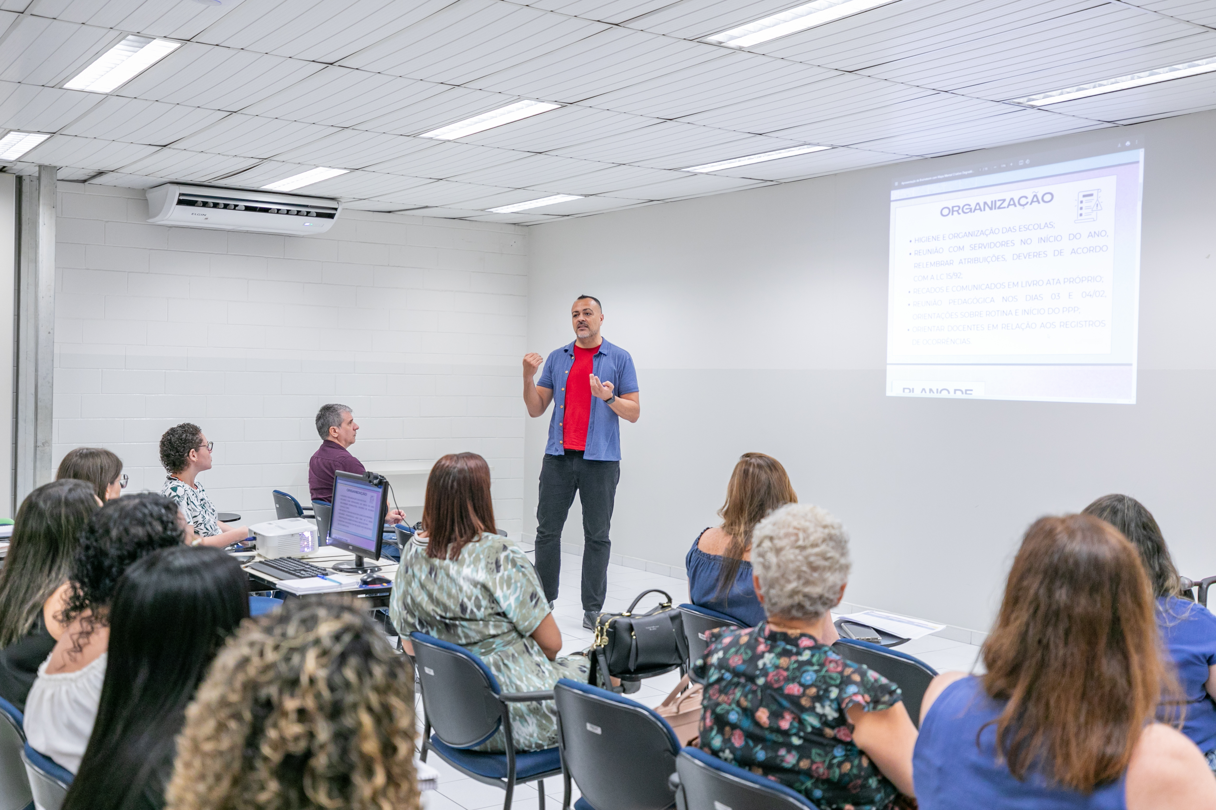
[[[921,703],[921,810],[1216,808],[1203,754],[1153,721],[1176,684],[1139,556],[1109,523],[1030,527],[983,655],[985,675],[938,675]]]

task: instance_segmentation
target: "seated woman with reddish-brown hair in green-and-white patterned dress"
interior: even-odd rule
[[[551,690],[559,678],[586,682],[585,656],[557,657],[562,634],[531,560],[494,533],[485,459],[457,453],[435,463],[422,525],[427,537],[401,549],[390,597],[406,645],[413,631],[457,644],[485,662],[505,692]],[[552,701],[512,703],[510,712],[516,750],[557,744]],[[477,750],[503,750],[502,732]]]

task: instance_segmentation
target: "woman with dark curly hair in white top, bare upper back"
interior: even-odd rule
[[[97,716],[114,588],[137,560],[185,542],[178,505],[153,493],[111,500],[85,525],[61,618],[67,627],[26,698],[30,747],[73,774]]]

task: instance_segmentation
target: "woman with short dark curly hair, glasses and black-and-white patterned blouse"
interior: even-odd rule
[[[186,522],[195,527],[196,545],[225,546],[249,536],[246,526],[229,526],[215,517],[215,504],[207,497],[203,485],[195,478],[212,469],[212,449],[198,425],[184,421],[164,431],[161,437],[161,464],[164,465],[164,486],[161,494],[173,498]]]

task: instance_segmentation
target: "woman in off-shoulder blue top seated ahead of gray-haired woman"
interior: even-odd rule
[[[751,529],[778,506],[796,503],[781,461],[764,453],[741,455],[726,486],[726,503],[717,510],[722,525],[698,534],[685,557],[689,601],[745,627],[764,622],[764,607],[751,587]]]

